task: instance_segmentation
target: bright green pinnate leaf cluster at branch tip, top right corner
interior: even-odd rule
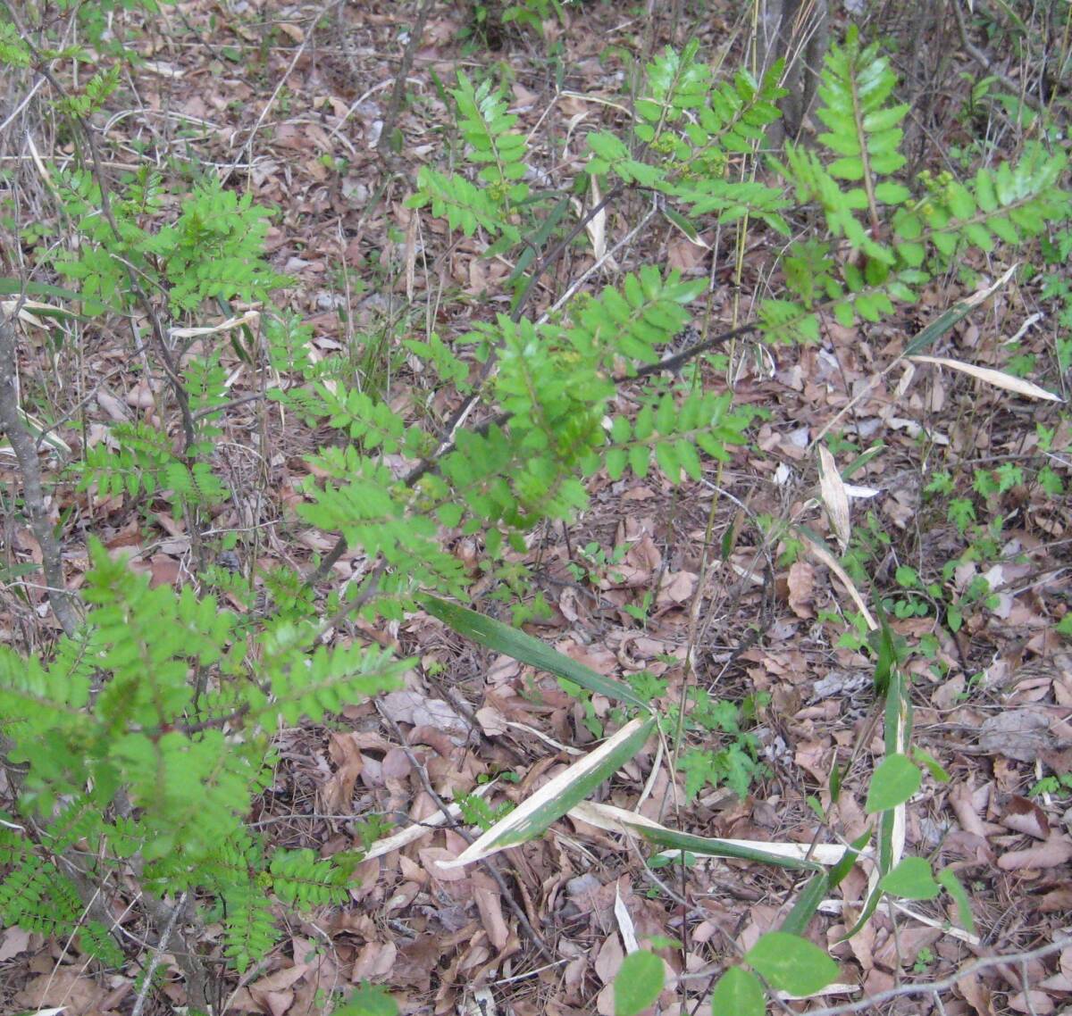
[[[1023,242],[1072,210],[1059,186],[1067,158],[1041,145],[1027,146],[1016,165],[980,168],[970,183],[921,174],[923,194],[913,195],[892,179],[905,164],[899,124],[907,106],[892,99],[896,84],[877,44],[861,46],[850,28],[844,45],[831,47],[819,88],[825,151],[790,144],[784,162],[772,159],[798,200],[818,205],[834,242],[791,245],[786,285],[793,298],[759,309],[768,338],[816,341],[818,304],[847,327],[878,322],[894,302],[915,302],[932,267],[971,248],[992,251],[995,237]]]

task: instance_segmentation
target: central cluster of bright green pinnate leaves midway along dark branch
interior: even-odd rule
[[[494,345],[497,368],[481,394],[495,423],[462,431],[456,447],[416,487],[394,476],[383,454],[419,459],[436,440],[402,422],[383,403],[336,386],[277,398],[306,415],[326,417],[354,444],[314,457],[324,481],[310,482],[300,514],[345,535],[352,547],[381,555],[411,588],[461,595],[467,577],[440,541],[440,527],[481,533],[497,556],[518,547],[542,519],[566,519],[587,494],[578,474],[606,465],[617,478],[626,465],[646,475],[652,460],[678,481],[701,475],[701,454],[728,458],[744,440],[748,418],[729,395],[680,393],[654,386],[632,422],[605,418],[615,393],[612,372],[635,360],[652,363],[687,320],[684,304],[699,292],[674,272],[655,268],[628,275],[622,289],[579,299],[561,322],[535,325],[500,315],[470,337]],[[564,384],[564,378],[568,379]],[[362,453],[363,452],[363,453]]]

